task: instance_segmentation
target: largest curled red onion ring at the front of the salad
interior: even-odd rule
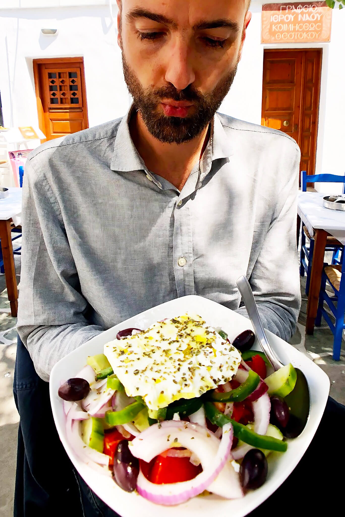
[[[203,465],[203,472],[196,478],[181,483],[160,485],[151,483],[140,471],[137,481],[137,491],[140,495],[153,503],[161,505],[184,503],[191,497],[199,495],[206,490],[223,470],[226,463],[231,465],[230,462],[227,461],[230,457],[233,438],[231,423],[224,425],[220,444],[219,440],[215,438],[212,433],[209,433],[207,429],[202,428],[198,424],[190,422],[183,422],[182,424],[181,422],[166,421],[162,422],[161,428],[158,428],[157,424],[152,427],[156,427],[156,429],[154,433],[148,433],[150,443],[148,444],[148,440],[142,438],[145,433],[145,431],[143,431],[141,437],[134,439],[131,444],[130,450],[132,454],[138,458],[142,458],[142,455],[145,455],[145,461],[147,461],[147,448],[149,448],[150,454],[154,452],[153,456],[149,459],[149,461],[151,461],[155,455],[162,452],[161,448],[166,447],[167,439],[171,437],[173,440],[177,438],[178,443],[181,443],[184,447],[190,448],[192,452],[198,454],[201,459],[201,464]],[[206,434],[201,430],[206,431]],[[143,450],[143,442],[145,442],[144,447],[146,448],[146,452]],[[153,443],[151,444],[151,442]],[[236,494],[235,497],[241,495],[242,492],[239,495]],[[231,485],[228,486],[227,497],[234,497]]]

